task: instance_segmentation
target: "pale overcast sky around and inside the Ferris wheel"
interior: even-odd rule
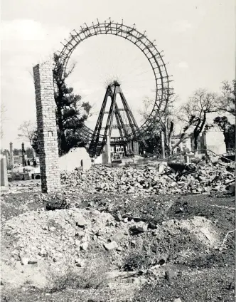
[[[109,17],[135,23],[156,39],[180,102],[198,88],[218,92],[222,80],[235,78],[234,0],[1,0],[1,103],[6,106],[1,147],[10,141],[21,147],[19,125],[36,120],[33,66],[60,50],[73,29]],[[151,67],[139,49],[119,37],[97,36],[76,48],[74,61],[70,83],[95,112],[105,82],[116,77],[139,120],[142,100],[154,89]]]

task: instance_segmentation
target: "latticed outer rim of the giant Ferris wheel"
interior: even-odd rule
[[[108,23],[106,23],[106,21],[104,21],[104,23],[99,23],[99,21],[97,20],[97,24],[93,24],[92,26],[87,26],[87,24],[85,24],[86,27],[82,28],[79,32],[75,31],[75,33],[70,33],[70,40],[67,41],[65,40],[67,43],[63,44],[63,49],[62,51],[59,52],[59,58],[60,58],[60,63],[63,64],[63,71],[64,73],[67,70],[67,66],[68,66],[68,61],[70,59],[70,56],[72,55],[73,51],[75,50],[75,48],[77,48],[77,46],[82,42],[85,41],[87,38],[90,38],[92,36],[98,36],[98,35],[104,35],[104,34],[109,34],[109,35],[113,35],[113,36],[119,36],[121,38],[125,38],[126,40],[132,42],[135,46],[137,46],[142,53],[144,53],[144,56],[146,56],[146,58],[148,59],[151,68],[154,72],[154,78],[155,78],[155,84],[156,84],[156,97],[155,97],[155,102],[154,102],[154,106],[151,110],[151,113],[149,114],[149,117],[146,118],[145,122],[139,127],[139,129],[141,130],[141,133],[146,132],[147,130],[151,131],[151,129],[153,127],[151,127],[151,118],[156,117],[155,116],[155,111],[156,108],[159,108],[159,110],[161,110],[161,105],[164,105],[164,107],[166,108],[166,104],[167,101],[165,102],[165,100],[163,99],[163,95],[164,95],[164,90],[168,91],[168,94],[171,90],[170,85],[169,85],[169,75],[167,73],[166,70],[166,64],[163,61],[163,58],[161,56],[161,52],[159,52],[156,49],[156,46],[154,45],[154,42],[151,42],[149,40],[149,38],[147,38],[147,36],[145,35],[146,31],[144,31],[144,33],[140,33],[139,31],[136,30],[135,28],[135,24],[133,27],[131,26],[126,26],[123,24],[119,24],[119,23],[114,23],[114,21],[109,21]],[[114,26],[114,27],[112,27]],[[119,26],[119,27],[118,27]],[[97,28],[98,31],[97,31]],[[94,31],[91,33],[91,31]],[[119,30],[119,32],[117,33],[117,31]],[[85,32],[89,32],[87,35],[85,34]],[[120,34],[119,34],[120,33]],[[136,36],[134,36],[133,33],[136,33]],[[84,37],[82,39],[80,39],[80,35],[84,35]],[[122,34],[126,34],[126,36],[122,36]],[[132,38],[136,39],[136,41],[132,41]],[[148,45],[146,45],[146,43],[144,43],[142,40],[146,39],[146,43],[148,43]],[[75,45],[73,44],[73,41],[75,41]],[[155,40],[154,40],[155,41]],[[144,46],[144,48],[141,48],[141,45],[137,45],[137,43],[141,43],[142,46]],[[72,47],[70,47],[72,46]],[[154,53],[154,51],[151,51],[151,48],[154,49],[154,51],[156,51],[156,53]],[[145,51],[148,51],[147,53],[145,53]],[[151,54],[151,57],[149,58],[149,54]],[[159,56],[159,61],[161,61],[161,65],[159,64],[159,62],[156,60],[156,55]],[[151,62],[151,59],[154,59],[154,62]],[[156,66],[154,67],[154,63],[156,63]],[[163,70],[161,71],[161,67],[163,67]],[[156,75],[156,68],[158,68],[159,70],[159,75],[160,78],[157,78]],[[164,74],[164,76],[162,75]],[[164,79],[166,79],[166,81],[164,81]],[[161,84],[158,83],[158,80],[161,80]],[[167,87],[164,87],[164,84],[166,84]],[[159,85],[161,85],[161,88],[159,88]],[[161,90],[161,99],[159,97],[159,91]],[[159,98],[159,99],[158,99]],[[158,104],[159,103],[159,104]],[[87,132],[87,135],[85,135],[86,137],[90,137],[91,133],[93,132],[92,129],[90,129],[90,127],[84,126],[85,129],[83,130],[83,132]],[[130,136],[132,137],[132,135]]]

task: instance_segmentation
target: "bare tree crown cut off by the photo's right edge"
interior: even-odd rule
[[[235,116],[236,80],[232,80],[232,83],[225,80],[222,84],[222,95],[220,95],[219,98],[219,110]]]

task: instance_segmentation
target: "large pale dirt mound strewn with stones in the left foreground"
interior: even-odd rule
[[[39,283],[32,276],[41,274],[41,286],[45,286],[49,272],[52,276],[63,276],[68,268],[89,270],[104,263],[107,269],[112,269],[119,264],[114,253],[120,253],[120,244],[128,234],[126,224],[119,231],[117,227],[114,217],[94,209],[20,214],[2,228],[1,256],[10,268],[4,270],[2,278],[11,281],[10,276],[18,276],[18,281],[11,283],[19,286],[26,281],[20,278],[23,270],[37,286]]]

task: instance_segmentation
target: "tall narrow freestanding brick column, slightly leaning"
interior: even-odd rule
[[[53,62],[36,65],[33,68],[33,78],[36,91],[41,187],[42,192],[49,193],[60,189]]]

